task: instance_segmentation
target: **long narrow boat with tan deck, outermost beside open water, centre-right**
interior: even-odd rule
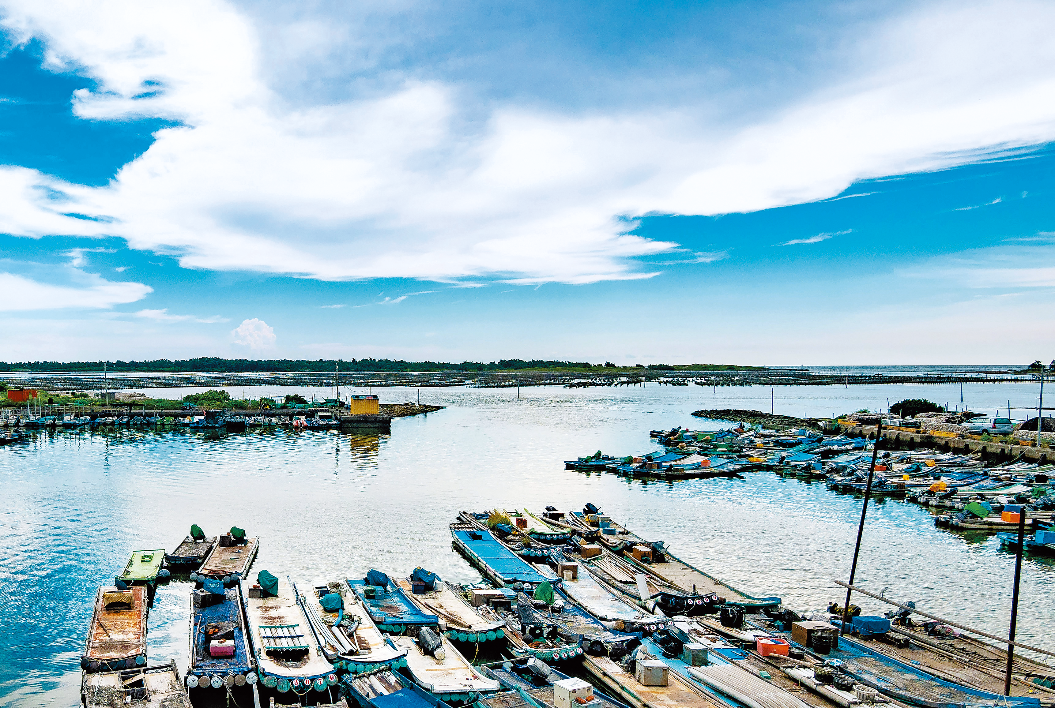
[[[594,510],[592,512],[588,510]],[[582,513],[570,512],[562,517],[562,522],[569,524],[572,528],[576,528],[581,532],[597,532],[602,527],[600,527],[601,519],[599,511],[593,504],[588,505]],[[556,512],[556,510],[554,510]],[[590,515],[596,515],[597,519],[592,520],[589,518]],[[596,523],[596,525],[594,525]],[[727,582],[723,582],[713,575],[705,573],[687,560],[683,560],[676,556],[663,541],[649,542],[646,541],[640,536],[632,533],[626,527],[613,521],[611,518],[607,519],[609,524],[607,528],[614,529],[614,534],[597,534],[597,541],[602,543],[605,547],[611,549],[616,553],[622,554],[622,559],[638,572],[644,572],[657,580],[667,583],[675,590],[674,593],[667,593],[667,597],[659,597],[656,600],[659,602],[659,608],[668,614],[686,614],[690,612],[692,614],[697,614],[697,610],[691,610],[688,607],[688,599],[692,599],[694,607],[707,608],[707,599],[712,596],[717,596],[724,599],[726,605],[737,605],[745,609],[750,610],[761,610],[766,607],[776,607],[781,604],[781,598],[775,596],[769,597],[755,597],[745,593],[736,588],[733,588]],[[619,540],[611,540],[619,539]],[[644,549],[649,549],[651,553],[650,562],[646,563],[641,559],[635,557],[633,551],[635,547],[642,547]],[[678,607],[683,600],[675,600],[674,597],[678,596],[676,591],[680,591],[682,596],[686,598],[685,607]],[[699,600],[697,602],[696,600]]]

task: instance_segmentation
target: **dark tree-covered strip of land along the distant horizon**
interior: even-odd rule
[[[101,371],[103,362],[0,362],[0,371]],[[493,362],[408,362],[392,359],[219,359],[198,357],[197,359],[155,359],[153,361],[106,362],[110,371],[217,371],[217,372],[260,372],[274,371],[554,371],[554,370],[611,370],[632,372],[640,369],[653,371],[768,371],[765,366],[738,366],[735,364],[635,364],[616,366],[612,362],[591,364],[589,362],[543,361],[524,359],[502,359]]]

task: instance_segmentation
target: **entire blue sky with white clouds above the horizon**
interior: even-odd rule
[[[0,359],[1055,356],[1050,5],[39,4]]]

